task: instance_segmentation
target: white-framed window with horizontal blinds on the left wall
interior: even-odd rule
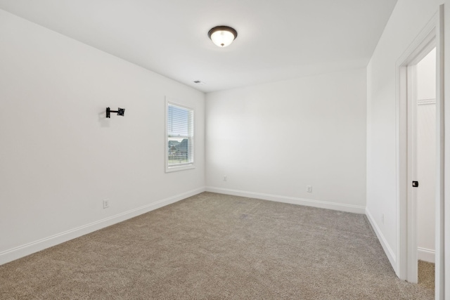
[[[167,101],[166,172],[194,168],[194,110]]]

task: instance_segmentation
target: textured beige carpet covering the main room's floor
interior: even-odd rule
[[[0,299],[433,299],[366,216],[202,193],[0,266]]]

